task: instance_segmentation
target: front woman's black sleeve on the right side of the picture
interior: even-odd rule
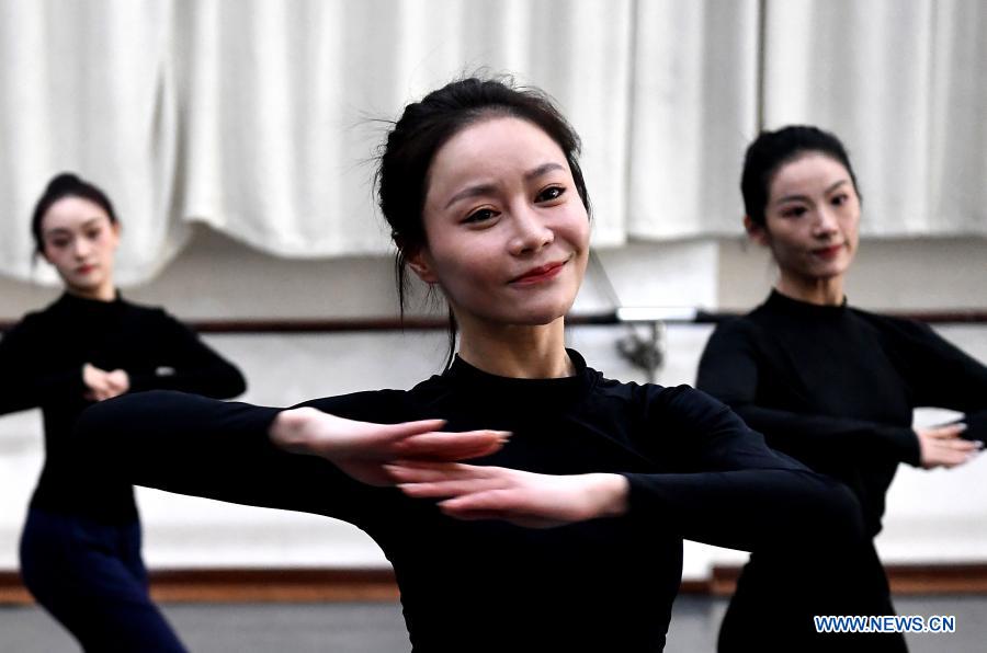
[[[688,445],[678,466],[695,471],[625,474],[632,513],[660,515],[687,539],[747,551],[863,537],[846,486],[769,449],[727,406],[684,387],[658,401],[656,419]]]

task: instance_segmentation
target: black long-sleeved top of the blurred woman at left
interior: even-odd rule
[[[159,308],[65,294],[0,340],[0,413],[41,408],[45,465],[32,507],[110,523],[137,517],[129,484],[111,482],[67,454],[84,409],[82,366],[123,369],[129,392],[167,388],[209,397],[243,392],[240,371]]]

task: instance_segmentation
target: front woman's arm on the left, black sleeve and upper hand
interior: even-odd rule
[[[382,417],[388,414],[377,393],[315,403],[343,413],[366,414],[376,408]],[[485,455],[503,438],[498,432],[442,434],[435,431],[440,424],[371,424],[314,408],[282,411],[154,391],[84,411],[73,446],[80,463],[138,485],[352,520],[365,482],[387,482],[375,476],[375,466],[379,469],[397,455],[440,460]]]

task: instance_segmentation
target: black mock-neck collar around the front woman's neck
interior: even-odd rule
[[[572,362],[575,374],[551,379],[519,379],[502,377],[478,369],[457,355],[453,364],[443,373],[457,391],[466,391],[476,397],[511,397],[518,401],[575,401],[592,386],[593,375],[586,360],[575,350],[566,350]]]

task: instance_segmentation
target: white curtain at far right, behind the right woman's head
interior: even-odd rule
[[[987,236],[987,3],[771,0],[768,128],[850,150],[873,236]]]

